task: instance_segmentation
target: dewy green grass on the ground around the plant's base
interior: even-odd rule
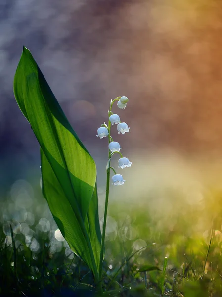
[[[29,212],[35,213],[37,202],[46,209],[44,200],[36,200]],[[222,296],[219,230],[212,228],[205,236],[196,232],[198,220],[189,208],[189,216],[163,214],[161,220],[151,216],[144,205],[130,210],[130,206],[127,209],[118,203],[118,212],[116,209],[116,203],[110,205],[107,221],[104,296]],[[45,218],[47,212],[43,213]],[[73,257],[65,242],[53,237],[56,227],[50,212],[46,218],[50,229],[46,232],[39,228],[41,212],[35,216],[28,237],[16,228],[18,222],[13,219],[0,226],[0,296],[98,296],[86,264]],[[32,244],[36,241],[38,250]]]

